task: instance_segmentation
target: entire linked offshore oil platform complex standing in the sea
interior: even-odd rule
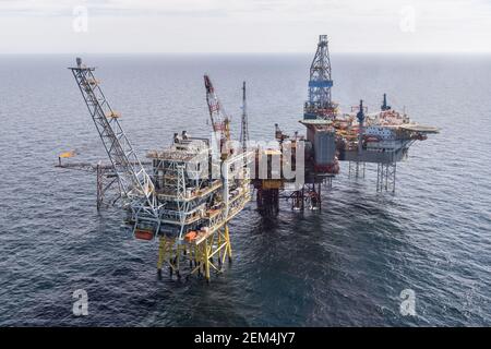
[[[384,101],[369,115],[362,100],[348,113],[332,101],[328,43],[320,36],[310,68],[309,98],[303,119],[307,135],[284,134],[276,124],[275,146],[249,140],[246,82],[242,85],[240,142],[233,143],[230,118],[225,112],[208,75],[204,75],[212,121],[211,139],[175,133],[170,145],[148,152],[141,161],[127,137],[121,113],[106,99],[95,68],[80,58],[70,68],[109,157],[109,164],[71,163],[67,152],[58,167],[97,174],[97,209],[118,201],[136,239],[158,239],[157,270],[170,275],[221,272],[231,261],[228,224],[256,194],[258,210],[265,217],[279,210],[279,200],[295,210],[320,209],[321,189],[331,186],[339,161],[348,161],[357,176],[366,163],[378,164],[378,191],[395,190],[396,164],[415,141],[438,129],[422,127]]]

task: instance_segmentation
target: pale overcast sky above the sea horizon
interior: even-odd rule
[[[0,53],[491,52],[491,0],[0,0]]]

